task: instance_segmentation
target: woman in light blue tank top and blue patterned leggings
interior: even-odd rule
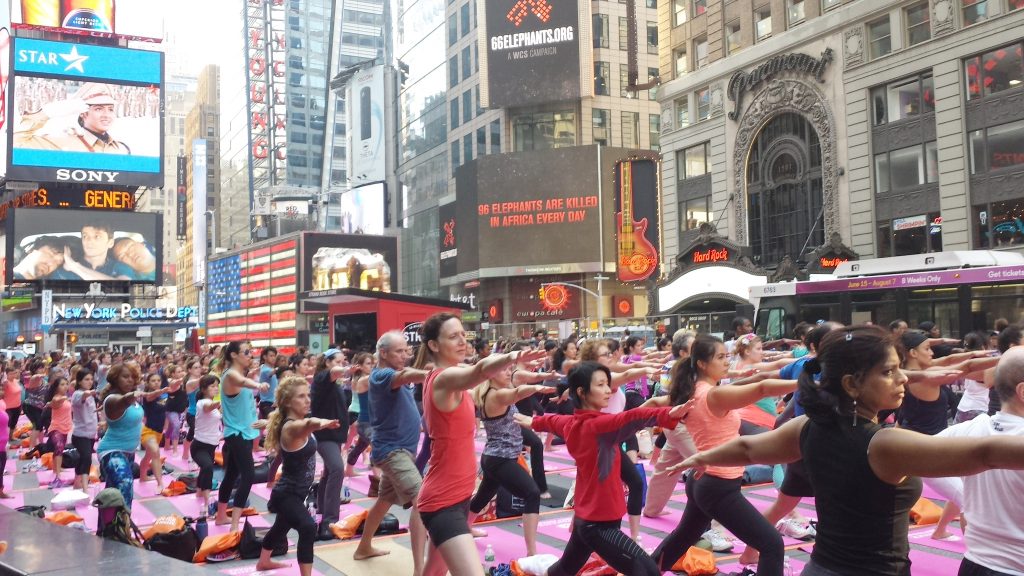
[[[128,507],[134,494],[131,464],[142,436],[142,407],[138,405],[142,393],[135,389],[138,378],[138,369],[128,364],[116,364],[106,373],[102,398],[106,433],[96,447],[106,487],[120,490]]]

